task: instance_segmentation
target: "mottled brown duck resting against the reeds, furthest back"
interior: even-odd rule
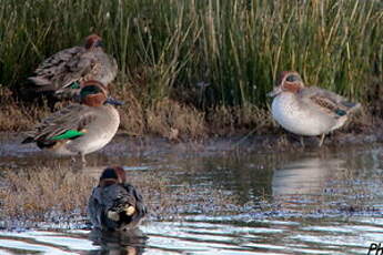
[[[83,81],[95,80],[108,86],[117,72],[115,59],[103,51],[101,38],[91,34],[83,47],[64,49],[46,59],[28,80],[34,93],[60,100],[78,95]]]

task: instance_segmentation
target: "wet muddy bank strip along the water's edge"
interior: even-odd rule
[[[371,125],[351,123],[345,129],[327,134],[322,147],[318,147],[319,137],[316,136],[304,136],[304,146],[302,146],[299,135],[285,132],[282,128],[278,128],[278,131],[272,134],[254,134],[256,131],[252,130],[242,135],[211,135],[195,140],[170,140],[159,135],[131,136],[124,131],[119,131],[104,149],[99,153],[89,154],[87,157],[97,159],[100,156],[97,154],[104,156],[121,156],[123,154],[160,156],[171,153],[182,157],[187,154],[209,156],[230,152],[270,153],[289,150],[336,150],[349,145],[383,142],[382,125],[383,121],[374,121]],[[34,144],[21,144],[23,137],[22,132],[0,132],[0,157],[46,156],[48,159],[51,156],[41,152]]]

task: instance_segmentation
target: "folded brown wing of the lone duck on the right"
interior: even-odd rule
[[[322,111],[340,118],[361,106],[360,103],[347,101],[345,98],[318,86],[309,86],[298,94],[308,105],[315,106]]]

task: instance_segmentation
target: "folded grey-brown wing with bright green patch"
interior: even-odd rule
[[[95,113],[87,105],[69,105],[44,119],[32,131],[27,132],[28,137],[22,143],[58,141],[81,136],[95,118]]]

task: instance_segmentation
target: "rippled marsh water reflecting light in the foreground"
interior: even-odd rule
[[[123,140],[90,155],[89,171],[121,164],[188,185],[174,215],[123,236],[75,222],[2,230],[0,254],[367,254],[383,242],[382,144],[262,152],[251,142]],[[49,164],[32,146],[1,142],[1,167]]]

